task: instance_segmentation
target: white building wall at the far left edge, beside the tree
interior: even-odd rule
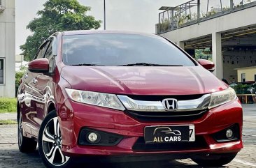
[[[0,97],[15,97],[15,0],[0,0]]]

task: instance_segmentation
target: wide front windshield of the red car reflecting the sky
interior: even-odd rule
[[[62,59],[69,66],[195,66],[159,36],[101,33],[63,36]]]

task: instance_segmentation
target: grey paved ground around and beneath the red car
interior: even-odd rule
[[[236,158],[225,167],[256,167],[256,105],[244,105],[243,114],[243,150]],[[13,114],[15,116],[15,114]],[[1,115],[0,115],[1,120]],[[0,125],[0,167],[37,167],[43,168],[43,163],[35,153],[20,153],[17,148],[17,125]],[[81,167],[118,167],[118,168],[171,168],[171,167],[190,167],[199,168],[191,160],[170,160],[169,162],[125,162],[120,164],[104,165],[80,165]],[[224,168],[224,167],[222,167]]]

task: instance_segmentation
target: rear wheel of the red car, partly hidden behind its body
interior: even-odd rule
[[[36,150],[37,142],[34,139],[23,136],[22,115],[17,116],[17,142],[22,153],[31,153]]]

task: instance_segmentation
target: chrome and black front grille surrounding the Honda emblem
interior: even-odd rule
[[[195,96],[120,96],[125,113],[139,121],[193,121],[208,112],[211,94]],[[177,109],[166,109],[163,100],[177,100]]]

